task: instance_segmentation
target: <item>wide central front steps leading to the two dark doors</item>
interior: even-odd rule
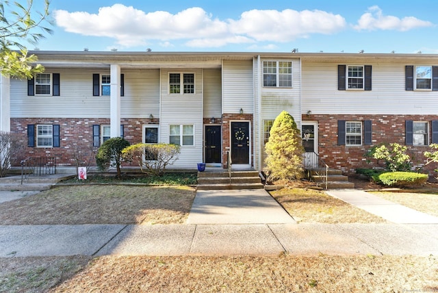
[[[226,170],[198,172],[198,190],[261,188],[263,184],[257,171],[232,171],[231,180]]]

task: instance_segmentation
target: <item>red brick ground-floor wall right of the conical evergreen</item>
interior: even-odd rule
[[[368,164],[363,154],[372,146],[382,143],[397,142],[404,145],[405,142],[405,121],[431,121],[438,120],[438,116],[426,115],[315,115],[310,117],[302,115],[302,120],[317,120],[319,124],[318,151],[322,160],[331,168],[337,168],[344,173],[353,174],[356,168],[372,168],[376,162]],[[363,121],[372,120],[372,145],[362,146],[339,146],[337,144],[337,120]],[[430,136],[430,123],[429,123]],[[362,136],[363,139],[363,136]],[[430,140],[430,137],[429,137]],[[428,146],[408,146],[408,154],[411,156],[415,168],[428,171],[434,175],[433,170],[438,168],[437,164],[424,166],[426,158],[424,151],[430,151]],[[374,161],[374,160],[373,160]],[[436,175],[436,173],[435,173]]]

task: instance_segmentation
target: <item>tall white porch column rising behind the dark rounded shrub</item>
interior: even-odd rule
[[[110,127],[111,137],[120,137],[120,66],[111,64]]]

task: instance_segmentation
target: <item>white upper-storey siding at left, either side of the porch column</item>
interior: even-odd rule
[[[48,71],[49,68],[46,68]],[[110,97],[93,97],[92,75],[96,69],[60,70],[60,97],[27,96],[27,80],[11,79],[11,118],[109,118]],[[110,72],[107,71],[107,74]],[[123,70],[125,97],[123,118],[159,118],[159,70]],[[103,74],[103,73],[101,73]]]

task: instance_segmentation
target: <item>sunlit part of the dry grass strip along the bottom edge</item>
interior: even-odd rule
[[[438,290],[435,257],[99,257],[51,292]]]

